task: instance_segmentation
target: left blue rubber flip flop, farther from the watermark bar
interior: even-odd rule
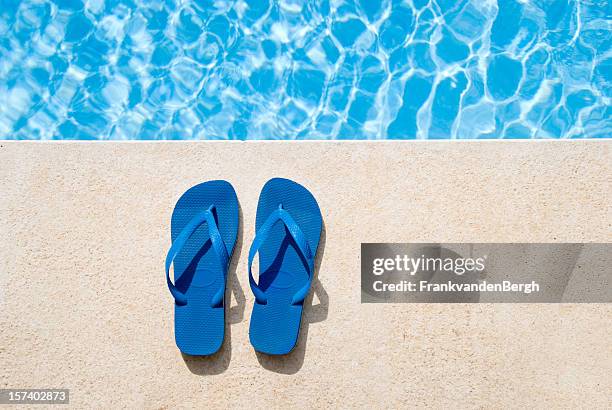
[[[226,181],[196,185],[174,207],[166,281],[175,300],[176,345],[183,353],[211,355],[223,344],[225,284],[238,235],[238,212],[236,192]]]

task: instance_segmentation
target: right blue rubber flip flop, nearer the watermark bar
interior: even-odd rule
[[[303,186],[274,178],[261,190],[257,233],[249,251],[249,283],[255,295],[249,336],[255,350],[281,355],[295,347],[322,226],[319,205]],[[251,268],[257,253],[259,283]]]

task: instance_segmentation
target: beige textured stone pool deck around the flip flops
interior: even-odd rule
[[[610,408],[609,304],[361,304],[362,242],[612,242],[612,141],[0,141],[0,388],[73,408]],[[325,236],[300,342],[248,341],[246,259],[272,177]],[[187,188],[231,182],[227,336],[174,343],[163,263]],[[16,408],[16,407],[10,407]]]

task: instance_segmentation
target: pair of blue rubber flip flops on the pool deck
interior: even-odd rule
[[[190,188],[174,208],[166,281],[175,300],[176,344],[183,353],[211,355],[223,344],[227,270],[238,224],[238,198],[226,181]],[[319,205],[303,186],[274,178],[263,187],[249,251],[255,295],[249,334],[255,350],[287,354],[297,343],[322,224]],[[251,269],[257,254],[259,281]]]

